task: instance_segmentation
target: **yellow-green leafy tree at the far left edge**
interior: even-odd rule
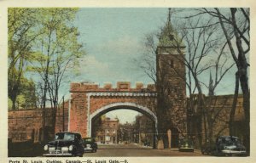
[[[16,109],[16,98],[21,93],[21,78],[31,57],[32,43],[41,34],[35,30],[37,23],[34,8],[8,9],[8,95],[12,110]]]

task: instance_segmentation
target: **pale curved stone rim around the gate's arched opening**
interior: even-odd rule
[[[93,112],[92,114],[90,114],[89,117],[89,124],[87,124],[88,126],[88,136],[91,137],[91,123],[92,123],[92,119],[96,118],[100,115],[106,114],[109,111],[112,110],[119,110],[119,109],[127,109],[127,110],[136,110],[140,113],[143,113],[144,115],[147,115],[148,118],[150,118],[152,121],[154,121],[154,128],[155,128],[155,140],[156,141],[156,136],[158,134],[158,130],[157,130],[157,116],[155,115],[155,113],[152,110],[149,110],[147,107],[142,106],[140,104],[134,104],[134,103],[113,103],[113,104],[108,104],[103,106],[102,108],[96,110],[95,112]]]

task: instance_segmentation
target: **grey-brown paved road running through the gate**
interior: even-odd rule
[[[142,147],[137,144],[108,144],[98,145],[96,153],[86,152],[84,157],[136,157],[136,156],[206,156],[201,155],[201,151],[195,150],[192,152],[178,152],[177,149],[152,149],[150,147]]]

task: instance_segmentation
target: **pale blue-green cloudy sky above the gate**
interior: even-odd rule
[[[165,25],[168,8],[80,8],[76,15],[79,42],[84,43],[86,56],[80,60],[80,76],[72,82],[97,82],[103,86],[111,82],[143,82],[144,86],[153,81],[138,68],[135,62],[143,54],[145,35],[159,31]],[[177,19],[173,16],[173,20]],[[230,94],[234,90],[234,70],[224,77],[217,87],[218,94]],[[204,76],[206,82],[209,76]],[[69,83],[63,87],[68,95]],[[121,122],[133,121],[138,114],[125,110]],[[112,111],[112,118],[121,116],[122,111]]]

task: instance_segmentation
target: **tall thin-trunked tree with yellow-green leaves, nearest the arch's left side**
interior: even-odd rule
[[[73,25],[78,8],[38,8],[38,31],[44,31],[35,43],[32,66],[42,83],[43,128],[47,100],[52,108],[53,130],[59,102],[59,90],[65,72],[79,66],[79,58],[84,55],[79,43],[79,31]],[[52,131],[55,132],[55,131]],[[43,133],[45,138],[45,133]]]

